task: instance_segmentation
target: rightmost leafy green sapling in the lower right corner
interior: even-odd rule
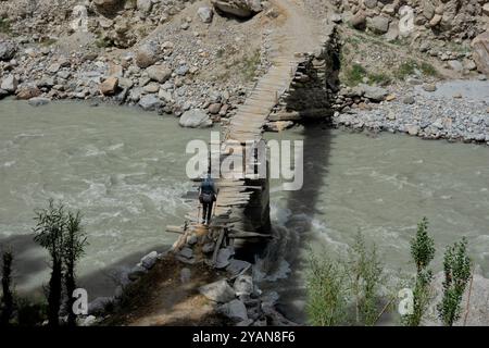
[[[438,316],[446,326],[452,326],[460,319],[462,297],[471,278],[471,258],[465,237],[447,248],[443,271],[443,298],[437,306]]]

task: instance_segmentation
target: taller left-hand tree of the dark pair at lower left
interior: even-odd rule
[[[49,200],[47,209],[36,211],[37,225],[34,240],[49,251],[51,257],[51,278],[48,286],[48,322],[51,326],[59,325],[59,313],[62,297],[63,278],[63,236],[66,228],[64,208]]]

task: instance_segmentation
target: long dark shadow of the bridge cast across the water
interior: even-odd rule
[[[286,210],[290,211],[290,216],[285,225],[274,226],[276,239],[268,245],[265,258],[275,266],[279,266],[284,259],[289,263],[288,277],[269,286],[279,291],[278,309],[290,320],[305,323],[303,271],[308,269],[309,260],[301,251],[309,248],[314,216],[324,214],[317,207],[322,206],[319,194],[328,173],[333,135],[327,126],[304,124],[301,136],[304,145],[304,183],[302,189],[288,192]]]

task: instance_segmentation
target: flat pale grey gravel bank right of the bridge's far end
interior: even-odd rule
[[[390,101],[337,112],[333,123],[355,130],[489,145],[489,82],[485,77],[404,85],[391,91]]]

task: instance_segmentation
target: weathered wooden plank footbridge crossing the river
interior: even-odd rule
[[[333,29],[330,30],[333,33]],[[330,34],[325,36],[328,40]],[[323,40],[318,47],[324,49]],[[287,41],[279,42],[281,47]],[[248,163],[246,156],[247,141],[258,144],[262,140],[263,126],[268,115],[279,102],[280,97],[293,90],[292,82],[298,74],[300,65],[311,57],[308,52],[277,54],[272,59],[272,66],[267,73],[259,78],[251,94],[241,104],[229,124],[224,128],[222,140],[218,144],[221,160],[233,156]],[[212,148],[212,144],[211,144]],[[259,163],[260,164],[260,163]],[[263,163],[261,163],[263,164]],[[246,164],[243,165],[246,167]],[[215,263],[220,248],[234,245],[235,240],[244,238],[271,238],[269,232],[269,192],[268,181],[233,177],[230,173],[221,172],[215,179],[218,188],[213,217],[209,226],[201,224],[201,208],[196,194],[191,200],[191,209],[186,222],[180,226],[167,226],[167,232],[178,233],[180,237],[173,246],[178,252],[188,244],[191,236],[203,237],[215,243],[211,263]],[[267,176],[267,175],[266,175]],[[197,184],[196,184],[197,186]],[[197,188],[196,188],[197,191]]]

